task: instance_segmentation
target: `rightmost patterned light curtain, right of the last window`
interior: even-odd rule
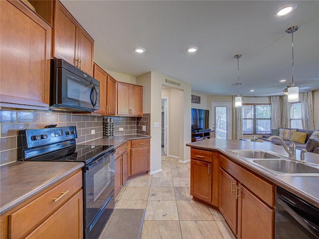
[[[299,93],[301,99],[301,121],[303,129],[315,130],[314,104],[312,92]]]

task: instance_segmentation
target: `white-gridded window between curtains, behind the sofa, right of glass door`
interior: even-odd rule
[[[244,105],[243,134],[271,133],[271,106]]]

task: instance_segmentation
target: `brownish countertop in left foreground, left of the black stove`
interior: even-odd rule
[[[0,215],[70,175],[81,162],[16,161],[0,167]]]

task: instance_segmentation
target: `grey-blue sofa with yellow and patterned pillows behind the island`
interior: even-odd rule
[[[319,154],[319,130],[306,130],[296,128],[278,128],[272,129],[271,135],[263,135],[259,139],[267,140],[272,135],[280,136],[287,146],[290,144],[290,140],[295,142],[297,149],[307,149],[308,152]],[[273,143],[282,145],[278,138],[271,140]]]

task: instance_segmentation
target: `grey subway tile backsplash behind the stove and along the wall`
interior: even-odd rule
[[[17,160],[18,131],[21,129],[43,128],[47,124],[57,127],[76,126],[77,143],[103,137],[103,122],[107,117],[72,114],[70,112],[38,112],[38,111],[0,111],[0,165]],[[115,124],[115,135],[147,134],[150,135],[150,114],[143,117],[112,117]],[[147,131],[142,131],[142,125]],[[123,128],[120,131],[119,128]],[[95,130],[91,134],[91,130]]]

